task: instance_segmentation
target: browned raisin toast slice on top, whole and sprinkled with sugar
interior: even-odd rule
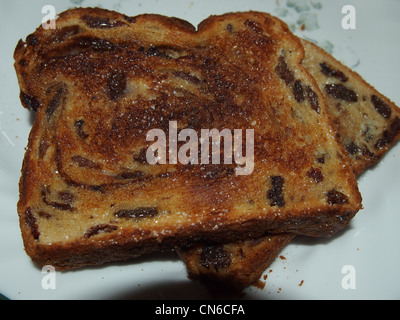
[[[344,228],[361,195],[303,56],[286,24],[258,12],[196,30],[78,8],[21,40],[20,97],[37,111],[18,202],[28,255],[65,270],[195,241]],[[199,139],[205,157],[190,149],[190,163],[178,162],[168,149],[187,146],[182,129],[242,133],[230,150],[242,158],[216,164],[214,144]],[[247,165],[251,174],[237,174]]]

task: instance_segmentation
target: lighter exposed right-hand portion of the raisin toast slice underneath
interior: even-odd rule
[[[400,138],[400,109],[358,73],[302,40],[303,65],[323,92],[356,175],[376,164]]]

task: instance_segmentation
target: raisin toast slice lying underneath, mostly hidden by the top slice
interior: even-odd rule
[[[303,65],[324,94],[358,176],[400,137],[400,109],[361,76],[307,40]],[[219,246],[178,250],[193,279],[212,280],[237,290],[256,283],[293,235],[265,235]],[[256,245],[255,245],[256,244]]]

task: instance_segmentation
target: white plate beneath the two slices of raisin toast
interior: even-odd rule
[[[42,287],[44,274],[23,250],[16,203],[20,168],[31,127],[21,107],[13,69],[20,38],[38,27],[44,5],[61,12],[99,4],[127,15],[161,13],[197,25],[210,14],[259,10],[279,15],[294,31],[319,41],[379,91],[400,105],[400,1],[352,0],[356,29],[342,28],[347,1],[88,1],[0,2],[0,293],[10,299],[202,299],[208,291],[187,279],[175,256],[153,254],[103,267],[56,273],[56,288]],[[306,6],[302,5],[306,4]],[[301,30],[302,14],[317,19]],[[300,19],[300,20],[299,20]],[[307,20],[310,22],[310,20]],[[311,21],[312,22],[312,21]],[[349,228],[329,240],[298,239],[266,271],[264,289],[249,288],[245,299],[400,298],[400,145],[360,179],[364,210]],[[346,269],[350,266],[350,269]],[[343,269],[345,268],[345,269]],[[269,272],[272,270],[272,272]],[[349,271],[350,270],[350,271]],[[345,273],[343,273],[345,271]],[[345,281],[346,277],[353,282]],[[346,284],[355,284],[346,289]],[[343,286],[345,284],[345,286]]]

